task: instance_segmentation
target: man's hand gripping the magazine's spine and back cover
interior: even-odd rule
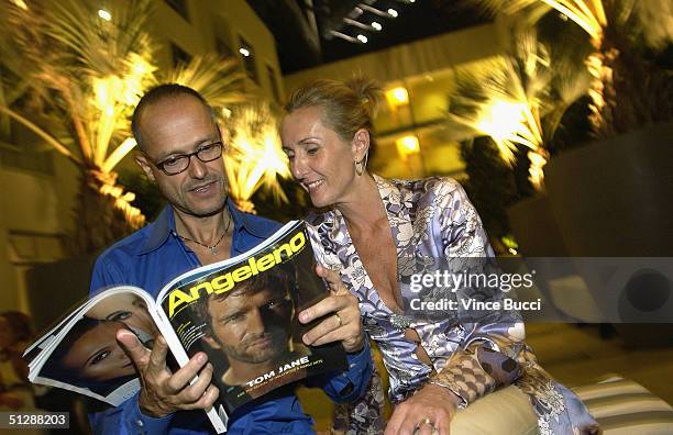
[[[120,330],[117,341],[140,375],[142,388],[137,402],[143,414],[163,417],[180,410],[207,409],[218,399],[219,390],[210,384],[212,365],[206,365],[206,354],[196,354],[185,367],[172,373],[166,367],[168,345],[163,336],[157,336],[152,352],[128,330]],[[189,384],[197,373],[199,379]]]

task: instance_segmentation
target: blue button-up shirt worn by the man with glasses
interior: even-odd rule
[[[227,202],[234,230],[231,255],[245,253],[269,237],[280,224],[236,210]],[[117,285],[132,285],[156,297],[173,278],[200,266],[195,253],[175,232],[173,209],[167,207],[158,219],[107,249],[96,261],[90,292]],[[366,342],[366,341],[365,341]],[[355,355],[347,355],[349,370],[328,377],[315,377],[305,384],[321,387],[336,402],[357,399],[372,376],[368,344]],[[306,415],[291,387],[282,387],[273,399],[247,403],[230,415],[230,434],[313,434],[313,419]],[[144,415],[137,394],[121,405],[89,415],[98,434],[203,434],[214,432],[203,411],[180,411],[163,419]]]

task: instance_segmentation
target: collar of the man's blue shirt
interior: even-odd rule
[[[225,204],[233,219],[234,232],[246,231],[247,233],[260,238],[266,238],[268,235],[268,228],[265,225],[264,220],[254,219],[253,215],[240,211],[229,197],[227,198]],[[164,243],[166,243],[168,235],[173,232],[175,232],[175,215],[173,207],[168,204],[152,223],[150,236],[141,246],[139,255],[148,254],[158,249]]]

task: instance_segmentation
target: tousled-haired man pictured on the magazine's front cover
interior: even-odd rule
[[[283,361],[311,354],[302,344],[293,342],[295,281],[294,267],[279,265],[238,283],[231,291],[199,299],[197,309],[207,325],[201,339],[227,359],[227,371],[214,383],[220,393],[227,391],[230,398],[238,398],[231,400],[236,405],[278,386],[278,381],[271,381],[251,389],[247,382],[277,370]],[[211,362],[217,366],[218,359],[213,356]],[[286,372],[282,382],[300,379],[305,372]]]

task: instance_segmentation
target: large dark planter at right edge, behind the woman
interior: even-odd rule
[[[545,185],[570,256],[673,257],[673,123],[561,154],[548,165]],[[632,277],[615,283],[614,270],[593,270],[580,259],[576,263],[597,301],[618,304],[628,297],[633,322],[665,314],[633,311],[647,306],[652,294],[663,298],[661,309],[673,299],[673,282],[666,274],[649,281],[663,282],[662,288],[635,289],[629,285]],[[615,324],[629,345],[666,344],[673,337],[673,323],[629,324],[629,319]]]

